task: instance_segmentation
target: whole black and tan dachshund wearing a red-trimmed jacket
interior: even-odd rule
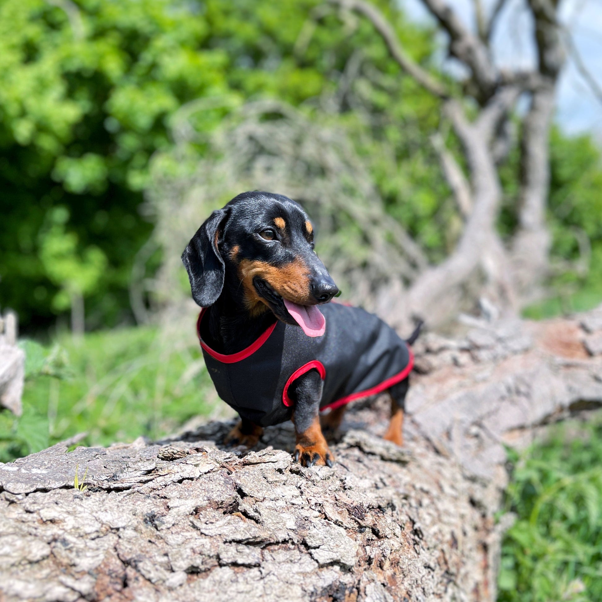
[[[412,352],[374,315],[328,303],[338,288],[300,205],[239,194],[200,226],[182,261],[203,308],[197,331],[209,374],[241,418],[226,442],[252,447],[264,426],[292,419],[296,461],[332,466],[322,427],[334,432],[347,402],[388,389],[385,439],[402,445]]]

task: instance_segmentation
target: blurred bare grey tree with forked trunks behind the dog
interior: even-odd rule
[[[549,190],[548,138],[556,81],[565,60],[557,24],[557,2],[528,2],[535,22],[538,66],[525,71],[500,70],[492,58],[489,47],[492,30],[504,0],[495,2],[489,19],[480,0],[474,0],[476,33],[462,23],[458,13],[444,0],[423,0],[448,36],[449,55],[461,61],[470,72],[463,82],[464,98],[452,98],[441,86],[433,87],[430,76],[403,52],[393,24],[376,5],[368,0],[328,2],[364,16],[403,71],[444,101],[442,117],[450,120],[468,167],[466,178],[442,137],[437,134],[431,138],[442,173],[464,217],[464,231],[448,258],[428,267],[411,283],[403,302],[389,302],[394,308],[392,314],[420,314],[428,318],[429,314],[445,313],[449,309],[448,291],[470,279],[478,265],[488,277],[489,290],[497,291],[495,302],[506,311],[517,311],[520,305],[540,294],[537,285],[549,272],[550,235],[545,223]],[[497,165],[509,152],[509,119],[522,93],[529,93],[530,108],[521,128],[519,228],[514,240],[504,246],[495,231],[501,201]],[[473,116],[474,109],[470,99],[479,107],[476,116],[471,118],[468,115]]]

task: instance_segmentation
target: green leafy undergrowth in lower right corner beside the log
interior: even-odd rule
[[[602,419],[512,454],[499,602],[602,600]]]

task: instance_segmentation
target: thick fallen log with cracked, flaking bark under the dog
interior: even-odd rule
[[[291,424],[223,448],[228,422],[0,464],[0,600],[495,600],[504,445],[602,405],[601,343],[602,307],[426,335],[406,446],[356,403],[334,468],[291,462]]]

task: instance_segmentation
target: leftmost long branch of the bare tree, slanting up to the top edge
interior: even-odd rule
[[[408,73],[408,75],[411,75],[418,84],[428,90],[431,94],[439,96],[439,98],[448,98],[449,93],[445,90],[445,87],[433,79],[428,72],[406,54],[402,45],[399,43],[399,39],[397,38],[397,34],[393,27],[375,5],[370,4],[370,2],[365,0],[327,1],[331,4],[338,5],[341,8],[345,8],[346,10],[355,11],[366,17],[380,34],[380,37],[382,37],[391,57],[406,73]]]

